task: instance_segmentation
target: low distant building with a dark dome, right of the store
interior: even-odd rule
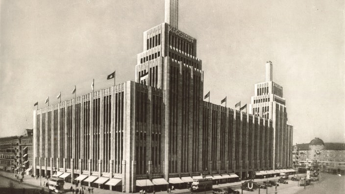
[[[345,143],[324,143],[314,138],[309,144],[296,144],[293,164],[295,167],[318,164],[322,171],[345,174]]]

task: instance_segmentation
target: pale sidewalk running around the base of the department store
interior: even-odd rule
[[[19,174],[17,174],[17,175],[19,175]],[[296,174],[295,176],[298,176],[298,175],[304,176],[304,174]],[[0,171],[0,176],[5,176],[8,178],[11,178],[14,181],[17,181],[17,179],[15,177],[15,173],[13,173],[13,172]],[[294,175],[290,175],[289,178],[291,178],[293,176]],[[254,179],[254,182],[262,182],[262,181],[266,181],[266,180],[277,180],[277,179],[279,179],[278,176],[277,177],[271,177],[271,178]],[[47,179],[46,178],[36,179],[36,178],[31,177],[29,175],[24,175],[23,181],[26,184],[37,186],[38,190],[41,190],[41,188],[44,188],[43,185],[44,185],[44,182],[47,182]],[[218,185],[213,185],[213,188],[241,186],[241,184],[246,182],[246,181],[247,180],[242,180],[241,182],[233,182],[233,183],[222,183],[222,184],[218,184]],[[42,185],[42,186],[40,186],[40,185]],[[72,194],[72,192],[70,192],[71,186],[73,186],[73,188],[75,189],[75,185],[72,185],[71,183],[65,182],[64,189],[65,189],[66,193]],[[84,194],[88,194],[88,191],[87,191],[88,187],[87,186],[84,186],[84,187],[85,187]],[[94,194],[122,194],[122,192],[99,189],[99,188],[95,188],[95,187],[93,187],[93,188],[94,188]],[[173,193],[173,194],[188,193],[188,192],[190,192],[188,189],[174,189],[173,191],[171,191],[171,193]],[[139,193],[139,192],[137,192],[137,193]],[[167,194],[166,191],[155,192],[155,193],[156,194]]]

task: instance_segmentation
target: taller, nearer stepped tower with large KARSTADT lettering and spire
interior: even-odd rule
[[[152,161],[168,179],[169,174],[202,170],[203,72],[197,58],[197,40],[178,29],[178,0],[165,1],[165,23],[143,34],[135,81],[163,91],[161,130],[163,162]],[[137,158],[140,161],[140,158]],[[137,172],[145,174],[138,166]]]

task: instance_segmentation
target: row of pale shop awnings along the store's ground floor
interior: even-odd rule
[[[217,174],[214,173],[210,174],[201,174],[197,176],[184,176],[184,177],[170,177],[169,180],[165,180],[164,178],[144,178],[144,179],[137,179],[136,183],[136,191],[148,191],[148,192],[159,192],[159,191],[167,191],[168,189],[188,189],[191,187],[193,180],[201,179],[201,178],[209,178],[213,180],[214,185],[222,184],[222,183],[231,183],[231,182],[238,182],[241,181],[241,177],[243,180],[247,179],[255,179],[255,178],[268,178],[274,177],[279,175],[279,173],[285,172],[288,174],[293,174],[296,171],[292,169],[283,169],[283,170],[261,170],[261,171],[246,171],[246,172],[236,172],[236,173],[222,173]],[[40,170],[36,169],[36,174],[39,176]],[[74,173],[74,177],[72,180],[72,174],[70,172],[65,171],[53,171],[52,175],[50,174],[50,170],[45,172],[44,169],[41,170],[42,176],[46,177],[47,179],[51,177],[58,177],[64,179],[66,182],[71,182],[75,184],[76,187],[80,186],[89,186],[89,187],[96,187],[105,190],[112,190],[123,192],[124,185],[122,184],[121,177],[107,177],[107,176],[99,176],[99,175],[88,175],[88,174],[77,174]],[[147,176],[148,177],[148,176]]]

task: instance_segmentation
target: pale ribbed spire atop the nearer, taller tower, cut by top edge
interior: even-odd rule
[[[164,22],[178,28],[178,0],[165,0]]]

